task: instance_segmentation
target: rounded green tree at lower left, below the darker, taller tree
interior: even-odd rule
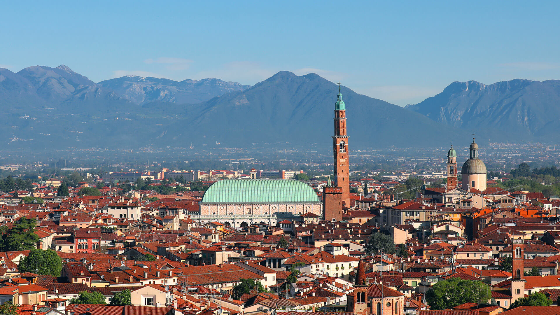
[[[17,267],[20,273],[32,272],[38,275],[60,276],[62,258],[52,249],[32,249]]]

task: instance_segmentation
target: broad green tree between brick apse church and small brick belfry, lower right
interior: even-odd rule
[[[451,278],[434,284],[426,293],[426,302],[432,309],[442,310],[463,303],[487,304],[491,297],[490,286],[482,281]]]

